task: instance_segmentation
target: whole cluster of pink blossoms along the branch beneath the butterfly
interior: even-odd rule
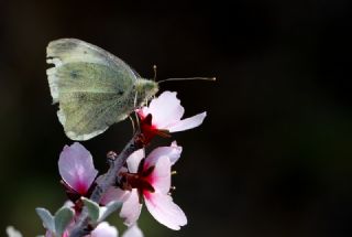
[[[176,93],[170,91],[164,91],[148,106],[138,108],[135,112],[140,122],[142,149],[128,157],[125,164],[116,174],[116,183],[98,203],[89,197],[106,174],[98,175],[92,155],[82,144],[75,142],[64,147],[59,154],[58,171],[68,196],[63,209],[66,208],[65,215],[70,218],[62,218],[64,220],[59,222],[61,216],[65,216],[59,211],[53,217],[47,211],[37,209],[46,228],[46,237],[68,237],[85,206],[91,211],[91,217],[96,220],[88,226],[90,229],[86,237],[117,237],[118,229],[105,222],[105,218],[117,209],[128,226],[122,237],[143,236],[138,226],[143,204],[158,223],[170,229],[178,230],[187,224],[185,213],[174,203],[170,195],[172,166],[180,158],[183,148],[176,141],[168,147],[158,147],[148,154],[144,148],[155,136],[169,137],[170,132],[201,125],[206,112],[182,119],[185,109]],[[95,214],[94,209],[97,209],[98,214]]]

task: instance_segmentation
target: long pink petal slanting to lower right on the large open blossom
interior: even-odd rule
[[[178,230],[180,226],[187,224],[185,213],[167,194],[153,193],[150,198],[145,198],[145,205],[157,222],[170,229]]]

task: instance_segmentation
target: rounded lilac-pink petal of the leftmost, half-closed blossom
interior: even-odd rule
[[[58,171],[62,179],[80,194],[86,194],[98,174],[90,152],[78,142],[65,146],[59,154]]]

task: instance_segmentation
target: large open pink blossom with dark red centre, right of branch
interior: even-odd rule
[[[169,195],[170,168],[180,157],[182,147],[157,148],[144,159],[144,150],[138,150],[128,158],[128,171],[120,172],[121,188],[113,188],[103,200],[123,201],[120,216],[124,224],[133,225],[142,208],[142,197],[153,217],[168,228],[178,230],[187,224],[184,212]],[[122,195],[121,191],[128,193]],[[123,200],[121,198],[123,196]]]

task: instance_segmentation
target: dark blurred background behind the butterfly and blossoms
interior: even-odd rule
[[[145,236],[351,236],[352,82],[346,0],[0,1],[0,231],[43,234],[34,208],[66,200],[57,160],[67,139],[47,85],[45,47],[78,37],[173,82],[200,128],[173,176],[189,224],[173,231],[143,209]],[[82,142],[100,171],[130,121]],[[157,140],[156,144],[168,144]],[[124,227],[116,216],[110,220]]]

